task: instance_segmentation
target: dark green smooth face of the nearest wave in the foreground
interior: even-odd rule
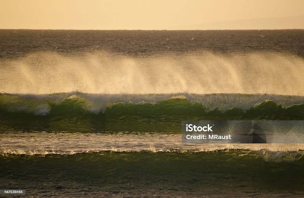
[[[304,188],[303,159],[267,162],[245,150],[1,155],[0,163],[2,187],[22,178],[19,185],[31,186],[31,195],[41,191],[41,185],[46,192],[64,189],[71,190],[69,193],[88,188],[95,192],[150,192],[153,187],[169,190],[171,196],[175,191],[214,195],[225,191],[296,193]],[[41,176],[45,176],[43,181]]]

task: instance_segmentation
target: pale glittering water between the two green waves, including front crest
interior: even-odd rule
[[[304,155],[304,144],[183,144],[181,134],[150,132],[26,131],[1,134],[3,155],[74,155],[98,152],[139,153],[247,153],[267,161],[297,160]],[[16,142],[16,138],[18,141]],[[81,142],[79,142],[81,140]],[[242,155],[240,155],[242,156]]]

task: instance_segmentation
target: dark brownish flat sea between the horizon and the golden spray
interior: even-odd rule
[[[106,50],[132,56],[189,53],[284,52],[304,55],[303,30],[0,30],[0,55]]]

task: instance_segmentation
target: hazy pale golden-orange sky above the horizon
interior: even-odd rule
[[[0,0],[0,29],[304,29],[304,0]]]

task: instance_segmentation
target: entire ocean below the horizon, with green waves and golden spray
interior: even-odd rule
[[[304,144],[181,142],[183,120],[304,120],[303,35],[1,29],[0,189],[303,197]]]

